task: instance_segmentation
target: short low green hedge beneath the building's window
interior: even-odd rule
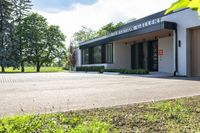
[[[85,66],[85,67],[77,67],[76,71],[85,71],[85,72],[104,72],[104,66]]]

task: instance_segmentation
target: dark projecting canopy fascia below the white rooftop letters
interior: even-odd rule
[[[119,41],[122,39],[134,37],[134,36],[140,36],[152,32],[158,32],[161,30],[176,30],[177,29],[177,24],[174,22],[168,22],[168,21],[161,21],[161,20],[155,20],[153,24],[150,24],[150,21],[148,26],[144,27],[139,27],[136,29],[134,26],[130,26],[126,29],[121,29],[116,32],[113,32],[107,36],[103,36],[100,38],[96,38],[93,40],[89,40],[86,42],[80,43],[79,47],[80,48],[87,48],[87,47],[92,47],[92,46],[97,46],[97,45],[103,45],[107,44],[113,41]]]

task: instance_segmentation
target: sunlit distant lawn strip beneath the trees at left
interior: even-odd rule
[[[62,67],[41,67],[40,72],[63,72],[64,69]],[[0,70],[1,72],[1,70]],[[13,68],[6,68],[5,69],[6,73],[20,73],[21,69],[13,69]],[[25,72],[26,73],[33,73],[36,72],[35,67],[25,67]]]

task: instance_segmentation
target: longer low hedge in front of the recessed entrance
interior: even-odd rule
[[[120,74],[149,74],[148,70],[145,69],[106,69],[105,72],[119,72]]]

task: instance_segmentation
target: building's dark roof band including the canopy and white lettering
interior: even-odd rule
[[[121,26],[118,30],[106,36],[98,37],[85,42],[80,42],[79,47],[84,48],[84,47],[106,44],[120,39],[125,39],[131,36],[138,36],[141,34],[155,32],[163,29],[171,29],[171,30],[176,29],[177,27],[176,23],[161,21],[161,18],[165,16],[164,15],[165,11],[166,10],[163,10],[161,12],[127,23]]]

